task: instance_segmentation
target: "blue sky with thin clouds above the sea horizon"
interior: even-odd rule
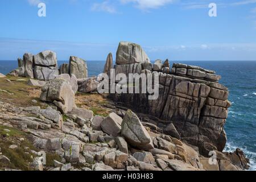
[[[120,41],[141,44],[151,60],[256,60],[256,0],[9,0],[0,24],[0,60],[45,49],[105,60]]]

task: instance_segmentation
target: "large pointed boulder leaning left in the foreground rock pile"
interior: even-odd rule
[[[125,117],[123,117],[121,134],[131,146],[142,150],[154,148],[147,130],[131,110],[127,110]]]

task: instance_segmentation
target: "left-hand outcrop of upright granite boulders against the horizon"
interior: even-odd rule
[[[69,64],[62,64],[58,69],[57,56],[53,51],[43,51],[37,55],[24,53],[23,59],[18,59],[19,67],[9,73],[11,76],[35,78],[36,80],[49,81],[58,75],[69,74],[76,78],[88,77],[86,61],[76,56],[71,56]]]

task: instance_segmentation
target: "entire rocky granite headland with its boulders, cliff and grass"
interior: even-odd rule
[[[214,71],[152,64],[141,46],[121,42],[115,65],[110,53],[102,73],[157,75],[159,97],[148,101],[148,94],[97,93],[102,80],[88,78],[79,57],[58,68],[56,53],[44,51],[25,53],[18,63],[0,74],[2,170],[249,169],[239,148],[222,152],[231,104]]]

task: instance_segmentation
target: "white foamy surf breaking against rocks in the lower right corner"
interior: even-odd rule
[[[241,148],[246,158],[250,160],[250,169],[249,171],[256,171],[256,152],[251,152],[246,149],[246,147],[237,147],[232,142],[226,143],[224,152],[234,152],[237,148]]]

